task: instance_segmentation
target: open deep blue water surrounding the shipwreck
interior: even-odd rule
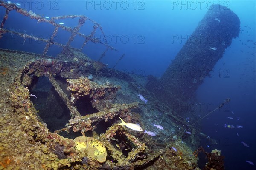
[[[200,116],[212,111],[231,98],[229,105],[211,113],[201,121],[202,132],[216,139],[214,145],[202,140],[201,145],[211,151],[217,148],[225,156],[226,170],[255,170],[256,165],[256,1],[11,1],[20,3],[21,8],[36,14],[54,17],[81,14],[99,23],[107,37],[108,45],[119,52],[108,51],[101,62],[110,68],[122,54],[125,57],[116,69],[161,77],[189,35],[198,26],[212,3],[227,6],[234,11],[241,22],[241,33],[233,39],[211,74],[197,91]],[[0,7],[0,18],[4,8]],[[74,27],[77,19],[63,19],[64,26]],[[92,23],[86,21],[80,32],[90,34]],[[250,28],[249,28],[250,27]],[[5,27],[26,32],[35,36],[49,38],[54,27],[48,23],[37,23],[11,11]],[[102,42],[100,32],[97,38]],[[66,43],[70,33],[59,31],[56,41]],[[174,37],[179,37],[177,40]],[[252,40],[248,41],[248,40]],[[9,34],[0,39],[0,48],[9,48],[42,54],[44,43],[26,40]],[[75,38],[71,44],[80,48],[83,41]],[[254,43],[254,44],[253,44]],[[105,50],[103,45],[89,43],[83,52],[98,60]],[[47,55],[56,55],[61,48],[52,46]],[[233,114],[233,113],[234,114]],[[199,117],[199,116],[198,116]],[[227,117],[233,117],[228,119]],[[230,129],[224,124],[242,125],[243,128]],[[237,135],[239,134],[239,136]],[[245,147],[241,142],[247,143]],[[207,145],[209,147],[207,147]]]

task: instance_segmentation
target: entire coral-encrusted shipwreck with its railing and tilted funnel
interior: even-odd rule
[[[198,149],[201,138],[217,142],[201,133],[197,119],[194,124],[186,122],[183,108],[173,108],[168,101],[183,105],[195,100],[195,90],[232,38],[238,36],[240,21],[233,11],[219,5],[209,10],[192,36],[218,35],[224,39],[210,44],[207,40],[186,43],[165,74],[156,79],[123,73],[100,62],[106,51],[117,49],[93,38],[96,30],[103,36],[104,32],[99,23],[86,16],[46,19],[15,3],[1,0],[0,6],[5,8],[0,38],[17,35],[24,43],[32,39],[45,44],[42,54],[0,49],[0,169],[199,169],[197,154],[206,153],[203,148]],[[37,23],[51,24],[55,27],[52,36],[43,39],[6,29],[10,11]],[[79,22],[70,28],[55,22],[60,18],[78,18]],[[229,24],[222,25],[216,18]],[[90,35],[79,32],[85,21],[93,24]],[[70,32],[66,44],[54,40],[61,29]],[[84,39],[79,49],[71,45],[75,36]],[[98,61],[81,52],[88,42],[106,48]],[[62,48],[57,57],[47,55],[52,45]],[[210,50],[209,46],[218,51]],[[116,65],[123,57],[124,54]],[[191,70],[198,69],[201,74],[189,79],[173,73],[191,74]],[[181,88],[190,90],[180,95]],[[142,102],[138,94],[149,102]],[[225,99],[218,108],[229,101]],[[117,125],[119,117],[128,123],[138,123],[143,130],[155,130],[152,122],[158,122],[164,129],[157,129],[157,137],[149,136]],[[220,154],[218,150],[206,153],[209,163],[205,168],[223,169]]]

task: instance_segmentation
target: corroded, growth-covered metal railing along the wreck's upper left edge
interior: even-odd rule
[[[108,44],[106,44],[104,42],[101,42],[99,39],[94,38],[94,37],[96,37],[95,36],[96,30],[99,29],[101,31],[102,35],[103,35],[103,40],[105,40],[105,42],[107,42],[107,40],[105,38],[105,34],[102,30],[102,26],[99,23],[96,23],[95,21],[91,20],[90,18],[88,18],[84,15],[63,15],[63,16],[45,18],[45,17],[43,17],[39,14],[35,14],[31,10],[26,11],[25,9],[20,8],[20,6],[18,6],[16,3],[11,3],[9,1],[0,0],[0,6],[3,6],[4,8],[6,8],[6,11],[5,11],[5,14],[3,16],[1,26],[0,26],[0,38],[3,37],[3,34],[10,33],[10,34],[16,34],[20,37],[23,37],[24,38],[23,44],[25,43],[26,38],[31,38],[31,39],[36,40],[36,41],[45,42],[46,45],[44,47],[43,56],[45,56],[47,54],[47,51],[48,51],[48,49],[51,45],[57,45],[57,46],[61,47],[62,50],[66,49],[66,48],[71,48],[73,50],[82,51],[82,49],[84,48],[85,45],[87,45],[88,42],[99,43],[99,44],[102,44],[106,47],[106,50],[101,54],[98,61],[100,61],[105,56],[105,54],[108,50],[118,51],[115,48],[109,46]],[[44,39],[44,38],[41,38],[41,37],[35,37],[33,35],[28,35],[26,33],[5,29],[4,24],[5,24],[6,20],[9,17],[8,16],[9,12],[12,11],[12,10],[17,11],[18,13],[20,13],[20,14],[26,16],[26,17],[30,17],[31,19],[37,20],[37,23],[45,22],[45,23],[49,23],[49,24],[52,24],[53,26],[55,26],[55,29],[54,29],[53,33],[51,34],[50,38],[49,39]],[[62,24],[55,22],[55,20],[67,19],[67,18],[72,18],[72,19],[79,18],[77,26],[75,26],[74,28],[71,28],[71,27],[63,26]],[[91,31],[91,33],[89,35],[85,35],[85,34],[82,34],[82,33],[79,32],[81,26],[84,25],[85,21],[90,21],[91,23],[93,23],[93,30]],[[68,31],[71,34],[66,44],[61,44],[59,42],[54,41],[54,37],[58,33],[59,29],[63,29],[65,31]],[[82,37],[84,39],[84,42],[82,43],[81,48],[74,48],[74,47],[70,46],[71,42],[74,40],[74,38],[76,36]]]

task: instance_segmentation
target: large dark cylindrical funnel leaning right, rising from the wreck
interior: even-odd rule
[[[195,101],[196,90],[204,79],[214,75],[215,64],[239,32],[239,17],[231,9],[213,4],[162,77],[151,77],[148,90],[186,115],[186,105]]]

